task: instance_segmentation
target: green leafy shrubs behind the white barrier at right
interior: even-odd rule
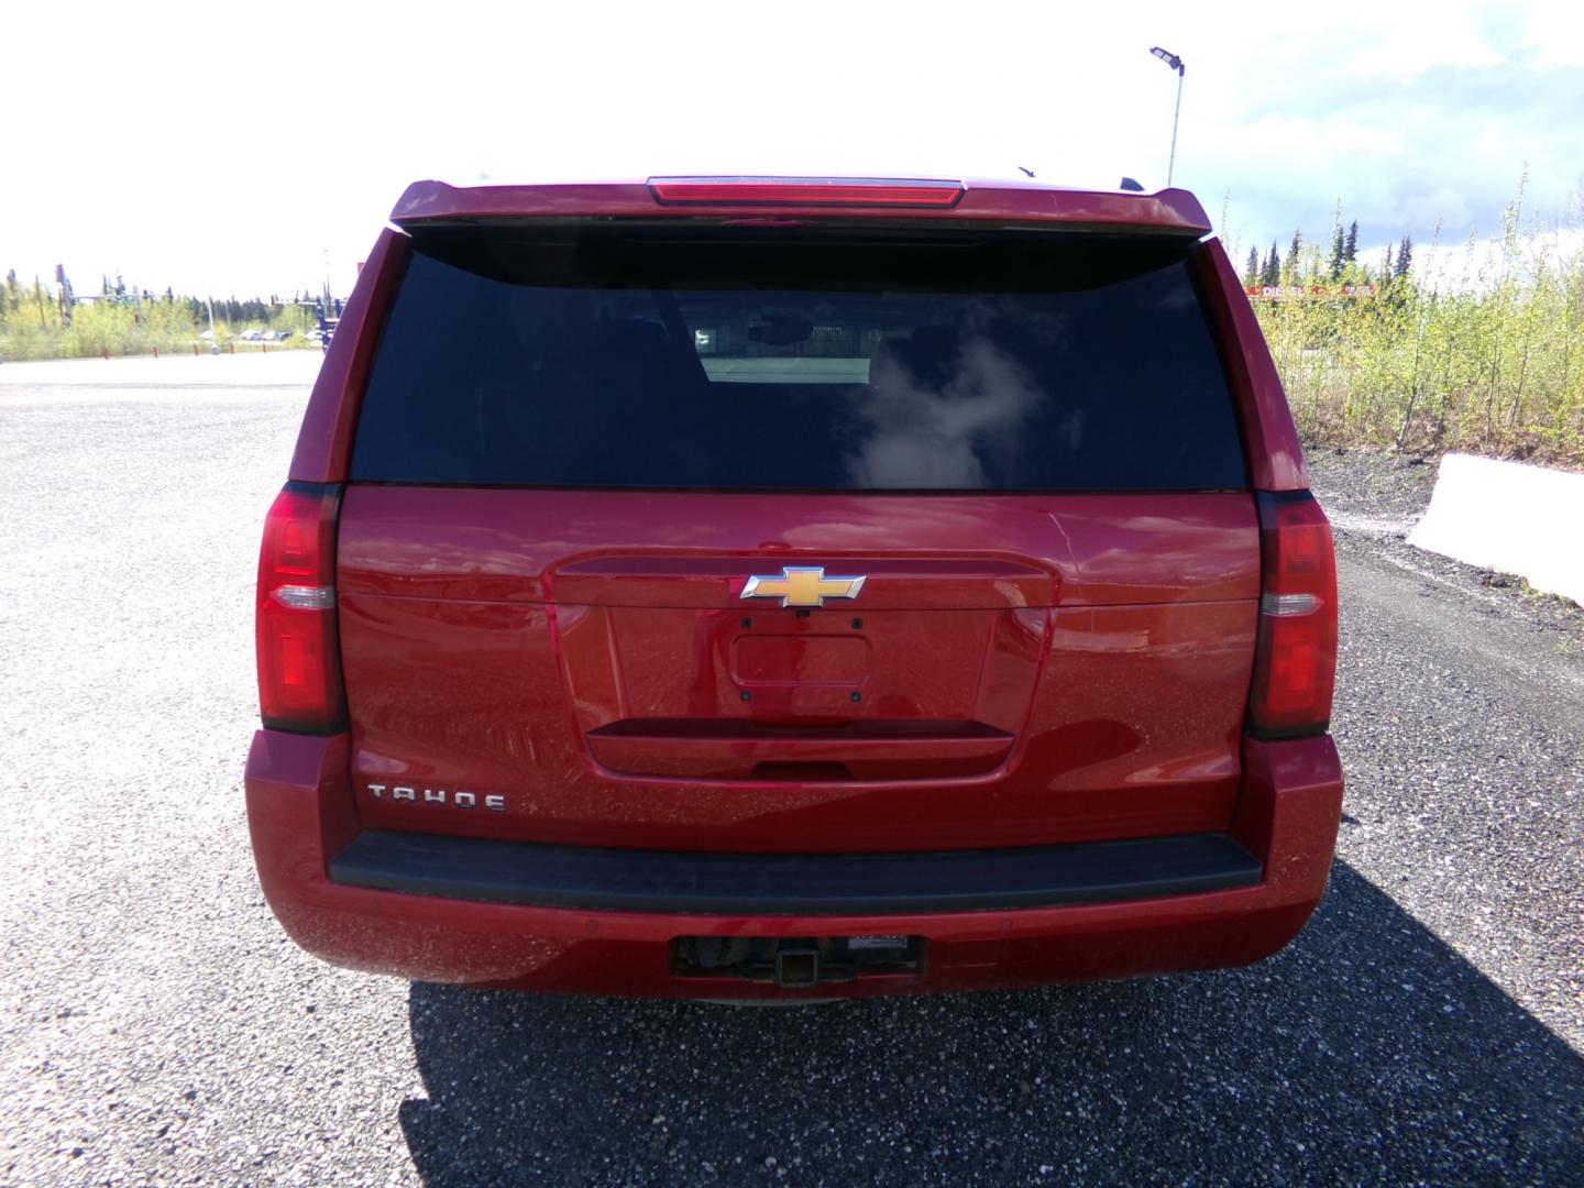
[[[1584,464],[1584,249],[1562,242],[1521,233],[1514,203],[1498,239],[1375,298],[1256,299],[1300,434]]]

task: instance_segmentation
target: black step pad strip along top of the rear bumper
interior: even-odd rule
[[[1115,903],[1253,887],[1224,833],[912,854],[694,854],[366,830],[348,887],[480,903],[710,916],[884,916]]]

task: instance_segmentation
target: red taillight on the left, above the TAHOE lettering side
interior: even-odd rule
[[[336,642],[341,488],[287,483],[258,556],[258,710],[276,730],[334,733],[345,722]]]

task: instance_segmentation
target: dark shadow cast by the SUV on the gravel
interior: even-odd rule
[[[1251,969],[786,1011],[415,984],[410,1019],[431,1185],[1584,1174],[1584,1060],[1342,863]]]

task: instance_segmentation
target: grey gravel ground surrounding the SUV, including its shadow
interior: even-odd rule
[[[280,358],[0,367],[0,1180],[1584,1180],[1584,630],[1394,539],[1434,467],[1315,455],[1350,786],[1280,957],[806,1011],[478,993],[307,958],[253,879]]]

